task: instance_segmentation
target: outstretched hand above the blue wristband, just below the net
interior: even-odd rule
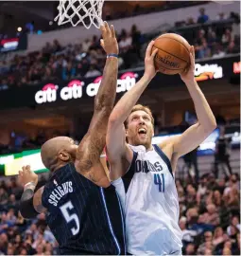
[[[100,40],[100,45],[105,50],[106,54],[119,54],[119,46],[115,37],[114,27],[109,27],[107,22],[104,22],[100,26],[102,33],[102,39]]]

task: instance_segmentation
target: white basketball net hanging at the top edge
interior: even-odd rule
[[[54,21],[58,20],[58,25],[70,22],[73,27],[82,23],[88,29],[92,25],[99,28],[103,23],[103,4],[104,0],[60,0],[59,14]]]

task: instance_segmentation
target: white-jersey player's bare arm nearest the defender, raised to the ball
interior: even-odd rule
[[[109,119],[107,155],[108,161],[111,164],[110,177],[112,180],[127,172],[127,168],[129,167],[129,163],[133,156],[132,151],[126,143],[126,132],[123,123],[129,117],[131,109],[156,74],[153,59],[157,53],[157,49],[151,54],[153,45],[154,41],[152,41],[146,49],[144,76],[120,99],[120,101],[117,102]]]

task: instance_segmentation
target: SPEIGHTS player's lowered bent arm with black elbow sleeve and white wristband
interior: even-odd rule
[[[19,171],[19,182],[24,187],[20,200],[20,212],[26,219],[35,218],[39,213],[45,211],[42,205],[44,187],[34,192],[38,184],[38,175],[31,171],[29,165],[22,167],[22,171]]]

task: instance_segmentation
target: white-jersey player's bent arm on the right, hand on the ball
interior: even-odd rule
[[[190,60],[191,66],[187,73],[181,74],[181,80],[185,82],[194,101],[198,122],[189,127],[181,136],[170,138],[170,142],[173,143],[173,153],[177,157],[196,149],[216,127],[215,116],[195,80],[194,46],[190,48]]]

